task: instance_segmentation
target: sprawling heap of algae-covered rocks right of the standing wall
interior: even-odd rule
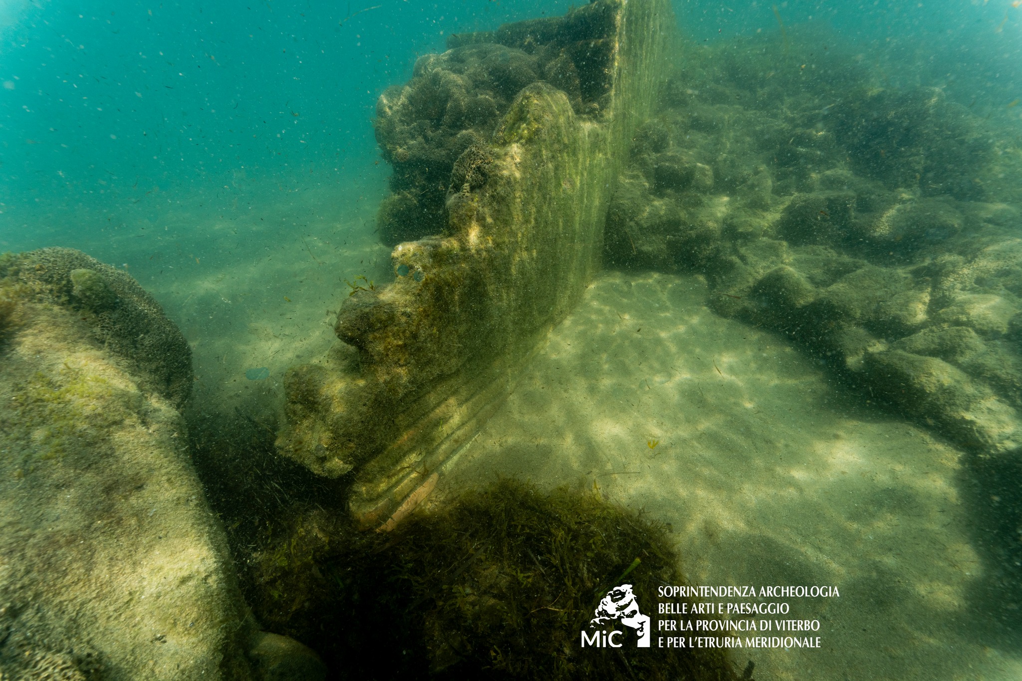
[[[878,87],[840,43],[688,52],[634,139],[605,262],[704,274],[717,312],[1007,451],[1022,428],[1022,213],[994,148],[1011,144],[937,90]]]

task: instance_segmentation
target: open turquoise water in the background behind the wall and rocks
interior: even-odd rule
[[[995,4],[676,9],[690,45],[778,34],[779,20],[830,27],[888,86],[935,85],[1017,126],[1018,9]],[[334,307],[311,291],[385,278],[373,270],[385,252],[373,230],[388,175],[371,127],[379,93],[451,33],[567,6],[8,3],[0,248],[69,246],[126,267],[190,330],[203,385],[233,382],[242,364],[269,360],[226,369],[231,360],[211,347],[222,329],[287,319],[294,305],[319,317]],[[313,281],[324,286],[303,284]],[[235,287],[244,310],[224,302]],[[259,320],[252,298],[264,305]],[[315,335],[301,342],[315,345]]]

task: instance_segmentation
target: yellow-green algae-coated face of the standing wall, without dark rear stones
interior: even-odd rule
[[[461,163],[461,177],[484,166],[485,182],[449,192],[445,232],[399,244],[394,271],[408,275],[345,302],[336,332],[357,356],[337,347],[285,378],[278,447],[319,475],[355,472],[352,508],[367,524],[385,521],[477,432],[599,266],[607,203],[654,98],[673,16],[660,0],[601,0],[558,21],[480,41],[527,49],[544,27],[602,27],[606,37],[586,48],[604,64],[602,104],[579,115],[552,85],[524,87],[484,153],[466,151],[478,160]]]

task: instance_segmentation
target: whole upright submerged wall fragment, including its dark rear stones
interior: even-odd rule
[[[393,284],[353,288],[329,359],[288,374],[278,440],[320,475],[355,475],[367,525],[433,484],[578,300],[672,30],[666,2],[599,0],[452,37],[380,97],[381,227],[420,238],[394,248]]]

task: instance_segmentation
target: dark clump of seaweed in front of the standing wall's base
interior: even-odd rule
[[[352,676],[738,678],[721,650],[638,648],[624,626],[609,627],[620,650],[580,646],[612,587],[631,584],[653,615],[657,586],[684,583],[664,527],[598,494],[501,480],[389,533],[327,537],[324,521],[311,514],[258,560],[267,600],[315,603],[276,625]]]

